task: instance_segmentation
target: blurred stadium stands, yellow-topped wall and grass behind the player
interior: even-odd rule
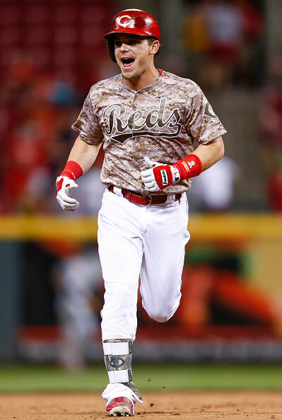
[[[99,390],[107,380],[96,244],[102,153],[78,181],[76,214],[59,208],[54,182],[90,86],[118,73],[102,35],[123,8],[158,18],[158,67],[199,83],[228,130],[225,158],[187,194],[192,239],[180,308],[160,325],[139,305],[136,383],[160,387],[165,371],[173,389],[281,387],[281,1],[0,7],[0,391],[68,390],[56,366],[81,372],[71,389],[94,390],[93,375]]]

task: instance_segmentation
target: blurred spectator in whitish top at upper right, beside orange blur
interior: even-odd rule
[[[249,1],[197,3],[184,19],[184,43],[192,53],[192,76],[204,88],[216,91],[238,81],[251,83],[247,73],[255,70],[252,56],[262,30],[262,17]]]

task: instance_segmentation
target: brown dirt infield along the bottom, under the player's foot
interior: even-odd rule
[[[136,419],[282,419],[282,392],[150,392],[136,404]],[[92,394],[0,395],[0,419],[106,419]]]

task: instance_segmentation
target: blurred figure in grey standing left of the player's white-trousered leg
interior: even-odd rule
[[[98,252],[69,244],[66,255],[54,267],[56,312],[60,329],[59,363],[78,371],[86,363],[87,351],[99,338],[100,303],[95,294],[102,288]]]

